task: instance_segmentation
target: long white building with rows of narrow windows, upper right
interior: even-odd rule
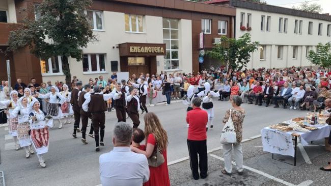
[[[240,0],[205,3],[235,7],[235,38],[250,33],[252,41],[260,42],[247,68],[310,67],[309,51],[331,41],[329,15]]]

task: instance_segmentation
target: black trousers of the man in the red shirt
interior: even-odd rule
[[[187,140],[188,154],[190,167],[192,170],[192,176],[194,179],[199,179],[199,170],[200,168],[200,177],[207,177],[208,172],[208,156],[207,156],[207,140],[203,141],[194,141]],[[199,162],[198,162],[199,154]]]

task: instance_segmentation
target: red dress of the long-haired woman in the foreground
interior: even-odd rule
[[[149,134],[147,143],[155,145],[155,137]],[[168,163],[167,163],[167,149],[162,151],[164,163],[158,167],[149,167],[149,180],[144,183],[144,186],[170,186]]]

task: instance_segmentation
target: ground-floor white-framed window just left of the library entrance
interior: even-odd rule
[[[83,72],[105,72],[104,54],[83,54]]]

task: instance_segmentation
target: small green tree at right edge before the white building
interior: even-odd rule
[[[309,51],[308,60],[317,66],[330,68],[331,67],[331,42],[323,45],[319,43],[317,45],[317,51]]]

